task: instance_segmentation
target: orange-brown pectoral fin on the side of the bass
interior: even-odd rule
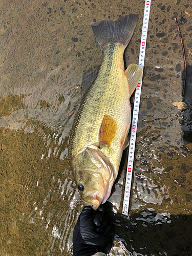
[[[112,116],[104,115],[99,129],[99,147],[110,146],[117,131],[117,123]]]

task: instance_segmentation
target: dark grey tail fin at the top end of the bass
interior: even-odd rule
[[[93,34],[100,49],[115,44],[126,48],[136,28],[138,17],[138,14],[129,14],[116,20],[103,19],[101,22],[92,23]]]

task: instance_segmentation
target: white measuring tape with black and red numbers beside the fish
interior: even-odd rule
[[[141,45],[140,45],[140,52],[139,52],[139,66],[142,68],[142,70],[144,67],[148,21],[150,19],[150,8],[151,8],[151,0],[150,1],[145,0],[143,27],[142,27],[142,34],[141,34]],[[123,209],[122,209],[122,214],[124,215],[128,215],[129,204],[130,204],[133,161],[134,161],[134,153],[135,153],[137,123],[138,123],[138,116],[139,116],[139,104],[140,104],[140,98],[141,98],[142,78],[143,78],[143,75],[141,76],[137,84],[137,88],[135,92],[131,137],[130,137],[130,148],[129,148],[129,156],[128,156],[128,162],[127,162],[125,191],[124,191]]]

